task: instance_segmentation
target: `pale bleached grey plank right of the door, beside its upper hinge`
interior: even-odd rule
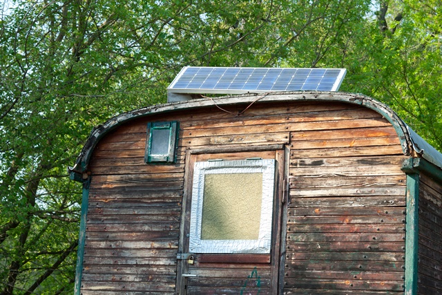
[[[405,196],[405,187],[355,187],[331,189],[291,189],[291,198],[316,198],[316,197],[354,197],[378,196],[387,199],[390,196]]]

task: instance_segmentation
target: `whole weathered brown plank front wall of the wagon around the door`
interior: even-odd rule
[[[403,292],[405,175],[391,124],[350,104],[256,103],[238,115],[246,106],[135,120],[99,142],[83,295],[172,294],[186,149],[270,144],[291,150],[285,294]],[[146,122],[155,120],[180,121],[177,164],[144,164]],[[188,294],[269,293],[269,264],[195,267]]]

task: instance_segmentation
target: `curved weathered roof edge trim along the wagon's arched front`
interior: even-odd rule
[[[257,98],[258,97],[258,98]],[[394,126],[398,138],[401,141],[401,146],[404,155],[410,155],[412,151],[413,142],[411,140],[410,132],[407,129],[407,125],[401,120],[401,118],[392,111],[392,109],[385,104],[379,102],[372,97],[368,97],[356,93],[343,93],[343,92],[331,92],[331,91],[294,91],[294,92],[275,92],[275,93],[249,93],[246,95],[233,95],[224,97],[202,98],[192,99],[184,102],[173,102],[168,104],[158,104],[155,106],[146,106],[144,108],[138,108],[134,111],[122,113],[104,122],[93,129],[90,133],[88,140],[84,144],[81,153],[77,157],[75,166],[69,167],[69,171],[75,171],[77,173],[83,173],[88,169],[88,162],[90,155],[95,149],[95,146],[99,140],[104,137],[108,132],[117,128],[117,126],[135,120],[140,117],[148,117],[149,115],[156,115],[158,113],[169,113],[172,111],[183,111],[186,109],[204,107],[204,106],[222,106],[229,104],[253,104],[257,101],[260,102],[289,102],[289,101],[323,101],[323,102],[344,102],[349,104],[358,104],[380,113],[385,119]],[[437,166],[442,166],[442,163]]]

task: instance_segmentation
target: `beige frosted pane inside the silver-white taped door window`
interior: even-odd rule
[[[202,240],[258,240],[262,173],[207,174]]]

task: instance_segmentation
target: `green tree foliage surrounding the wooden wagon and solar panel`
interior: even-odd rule
[[[70,294],[90,129],[165,102],[182,66],[347,68],[442,148],[441,3],[65,0],[0,6],[0,294]],[[10,8],[8,8],[8,6]]]

